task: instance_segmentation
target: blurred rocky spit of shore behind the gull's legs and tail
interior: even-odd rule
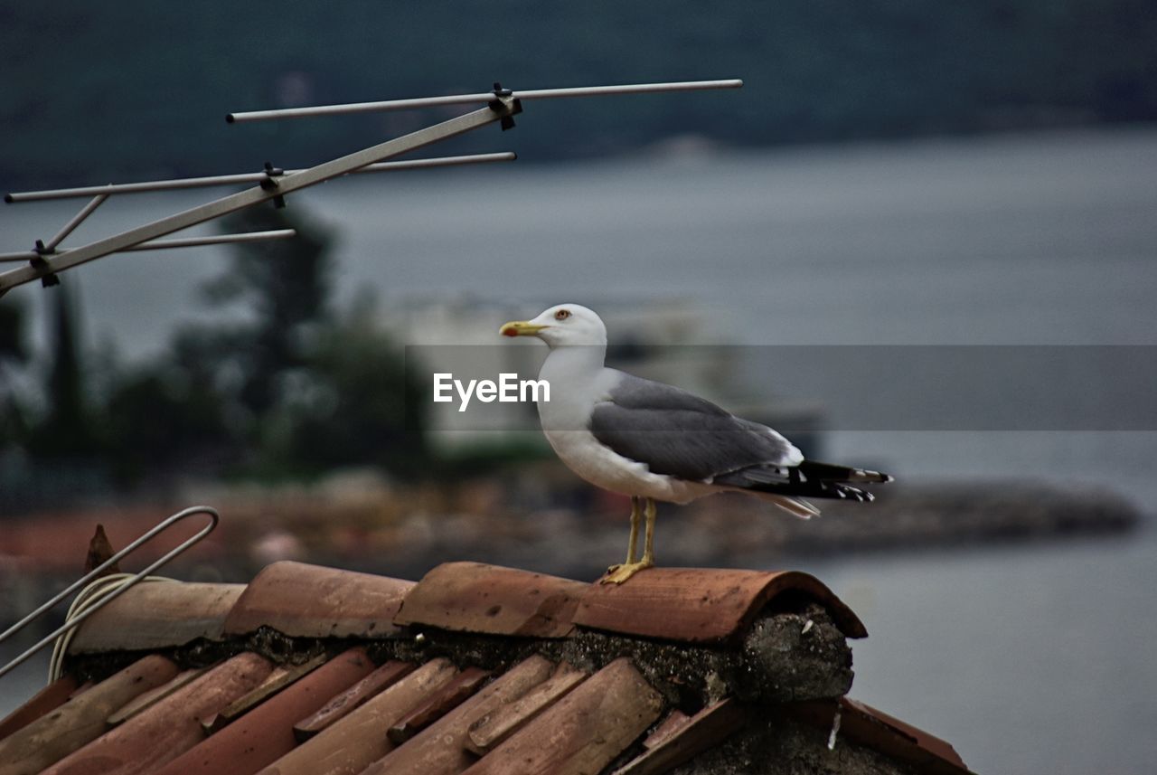
[[[790,563],[801,556],[1115,536],[1144,522],[1120,496],[1045,485],[892,487],[871,505],[821,505],[824,514],[809,521],[738,495],[662,505],[656,555],[664,566],[759,568],[779,556]],[[391,531],[384,554],[356,564],[405,576],[447,559],[471,559],[590,581],[621,560],[625,500],[622,507],[594,515],[552,509],[521,518],[411,517]]]

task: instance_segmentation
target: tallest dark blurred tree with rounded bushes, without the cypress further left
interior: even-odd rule
[[[222,228],[297,237],[237,245],[205,287],[219,319],[185,326],[162,360],[116,381],[106,427],[119,478],[420,470],[421,419],[406,416],[419,389],[371,302],[331,309],[330,235],[296,208],[250,208]]]

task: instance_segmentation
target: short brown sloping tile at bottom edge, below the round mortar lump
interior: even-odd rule
[[[614,775],[659,775],[691,761],[708,748],[737,732],[747,713],[731,699],[714,702],[694,716],[672,714],[673,723],[664,724],[643,741],[644,753]]]

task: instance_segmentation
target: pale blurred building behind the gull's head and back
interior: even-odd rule
[[[384,325],[405,345],[407,371],[420,384],[430,387],[427,431],[435,449],[492,446],[521,437],[543,442],[538,434],[538,413],[531,403],[472,400],[463,412],[456,393],[451,401],[434,403],[433,390],[435,374],[452,374],[463,384],[470,379],[498,381],[501,374],[516,374],[518,379],[536,378],[546,357],[546,347],[533,339],[502,339],[498,330],[506,320],[533,317],[553,303],[557,301],[516,309],[506,303],[459,295],[413,298],[388,305]],[[708,316],[697,302],[688,298],[638,303],[595,300],[590,307],[606,323],[610,366],[678,385],[768,425],[790,419],[793,428],[818,428],[818,407],[805,400],[775,396],[772,385],[745,384],[737,362],[742,352],[715,344],[720,332],[713,331]],[[526,436],[528,431],[533,435]]]

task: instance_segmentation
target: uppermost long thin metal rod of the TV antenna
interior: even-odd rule
[[[703,89],[738,89],[743,81],[731,79],[725,81],[676,81],[671,83],[629,83],[622,86],[589,86],[566,89],[529,89],[514,91],[514,99],[547,99],[551,97],[596,97],[614,94],[651,94],[657,91],[700,91]],[[224,120],[229,124],[244,121],[264,121],[275,118],[304,118],[308,116],[342,116],[347,113],[367,113],[381,110],[410,110],[414,108],[435,108],[439,105],[462,105],[489,103],[494,99],[493,91],[479,94],[456,94],[443,97],[417,97],[413,99],[386,99],[384,102],[353,102],[342,105],[310,105],[307,108],[282,108],[279,110],[255,110],[243,113],[229,113]]]

